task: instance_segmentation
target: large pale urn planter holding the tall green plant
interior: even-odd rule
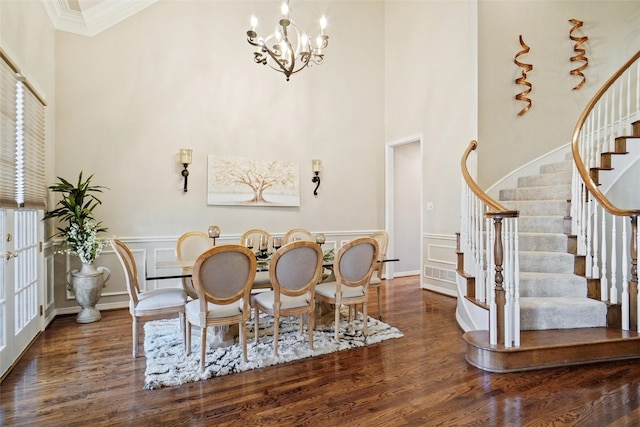
[[[76,301],[82,307],[76,316],[77,323],[92,323],[101,319],[96,305],[109,277],[111,271],[107,267],[95,268],[93,264],[82,264],[80,270],[67,272],[68,289],[75,294]]]

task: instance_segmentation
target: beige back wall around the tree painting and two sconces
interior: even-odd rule
[[[289,82],[246,42],[252,14],[272,29],[275,1],[160,1],[92,38],[57,34],[56,171],[110,188],[96,211],[109,233],[383,226],[384,63],[370,54],[384,45],[383,3],[293,6],[310,33],[326,13],[330,40],[325,63]],[[181,147],[194,150],[186,194]],[[299,162],[300,207],[207,206],[209,154]]]

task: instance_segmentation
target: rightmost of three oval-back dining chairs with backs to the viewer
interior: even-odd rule
[[[335,304],[335,340],[340,331],[341,305],[362,304],[363,333],[367,336],[367,298],[369,281],[378,260],[378,242],[360,237],[344,244],[336,253],[333,271],[336,280],[316,286],[316,299]]]

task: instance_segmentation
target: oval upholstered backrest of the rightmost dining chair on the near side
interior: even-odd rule
[[[336,282],[347,286],[367,286],[378,262],[378,242],[360,237],[344,244],[336,254],[333,269]]]

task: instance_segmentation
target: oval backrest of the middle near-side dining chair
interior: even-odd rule
[[[269,277],[276,294],[298,296],[312,291],[322,272],[320,245],[307,240],[287,243],[276,251]]]

